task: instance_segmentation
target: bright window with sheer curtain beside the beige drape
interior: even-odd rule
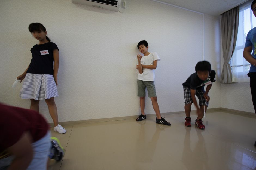
[[[233,82],[250,81],[247,73],[250,70],[251,64],[243,58],[243,49],[247,33],[256,26],[256,17],[252,13],[251,3],[252,1],[250,0],[240,5],[236,48],[230,62]]]

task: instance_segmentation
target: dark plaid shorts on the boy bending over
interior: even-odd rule
[[[192,98],[191,98],[191,93],[190,93],[190,88],[189,87],[183,87],[184,91],[184,98],[185,98],[185,105],[189,103],[193,103]],[[203,94],[205,93],[205,90],[196,90],[196,96],[199,99],[199,106],[209,105],[209,102],[206,102],[206,99],[203,97]],[[206,102],[206,104],[205,104]]]

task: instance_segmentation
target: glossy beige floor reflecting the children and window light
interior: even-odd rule
[[[256,169],[256,117],[215,111],[203,119],[205,130],[184,126],[184,115],[64,126],[52,130],[66,153],[49,169],[61,170],[243,170]],[[191,116],[192,120],[196,115]]]

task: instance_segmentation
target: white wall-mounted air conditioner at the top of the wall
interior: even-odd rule
[[[89,5],[111,11],[118,11],[121,0],[72,0],[72,3]]]

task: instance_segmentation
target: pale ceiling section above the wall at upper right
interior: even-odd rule
[[[154,1],[154,0],[153,0]],[[218,16],[248,0],[158,0],[189,10]]]

